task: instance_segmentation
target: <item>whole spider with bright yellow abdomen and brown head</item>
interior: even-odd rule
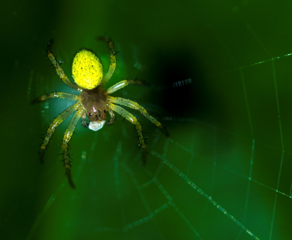
[[[119,105],[123,105],[132,109],[138,110],[145,118],[152,122],[155,126],[160,128],[165,134],[166,131],[162,127],[161,123],[157,121],[154,117],[147,113],[146,109],[139,105],[138,103],[120,97],[112,97],[109,94],[114,93],[115,91],[124,88],[128,84],[141,84],[141,81],[136,80],[123,80],[120,81],[108,89],[104,89],[104,85],[111,78],[114,70],[117,67],[116,57],[113,51],[113,41],[107,37],[99,38],[107,42],[109,51],[110,51],[110,66],[107,74],[103,76],[103,67],[98,59],[97,55],[90,50],[82,49],[75,55],[72,63],[72,77],[75,82],[72,82],[65,75],[62,67],[62,61],[57,61],[53,56],[51,51],[51,42],[48,43],[48,58],[53,63],[56,73],[60,76],[61,80],[67,84],[70,88],[78,91],[80,94],[75,95],[71,93],[55,92],[51,94],[42,95],[33,102],[40,102],[52,98],[64,98],[68,100],[74,100],[72,106],[65,109],[55,120],[51,123],[48,128],[48,132],[45,135],[44,141],[41,144],[40,149],[40,160],[43,161],[44,151],[47,148],[49,140],[55,130],[55,128],[62,123],[66,118],[74,113],[71,120],[69,121],[68,127],[65,131],[63,141],[62,141],[62,150],[63,150],[63,166],[65,167],[65,174],[70,187],[75,189],[75,184],[71,176],[71,162],[72,159],[69,156],[68,142],[74,133],[75,127],[81,118],[81,124],[85,128],[89,128],[93,131],[98,131],[100,128],[106,125],[112,125],[114,123],[114,112],[124,117],[130,123],[134,125],[134,128],[137,131],[139,146],[142,150],[142,164],[146,163],[146,142],[143,137],[141,124],[138,122],[135,116],[128,112],[126,109],[122,108]],[[116,105],[119,104],[119,105]],[[106,122],[107,112],[110,115],[109,121]],[[89,123],[87,121],[89,120]]]

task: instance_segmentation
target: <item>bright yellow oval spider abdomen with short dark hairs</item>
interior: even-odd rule
[[[95,88],[103,78],[100,60],[93,52],[80,50],[73,59],[72,76],[81,88]]]

